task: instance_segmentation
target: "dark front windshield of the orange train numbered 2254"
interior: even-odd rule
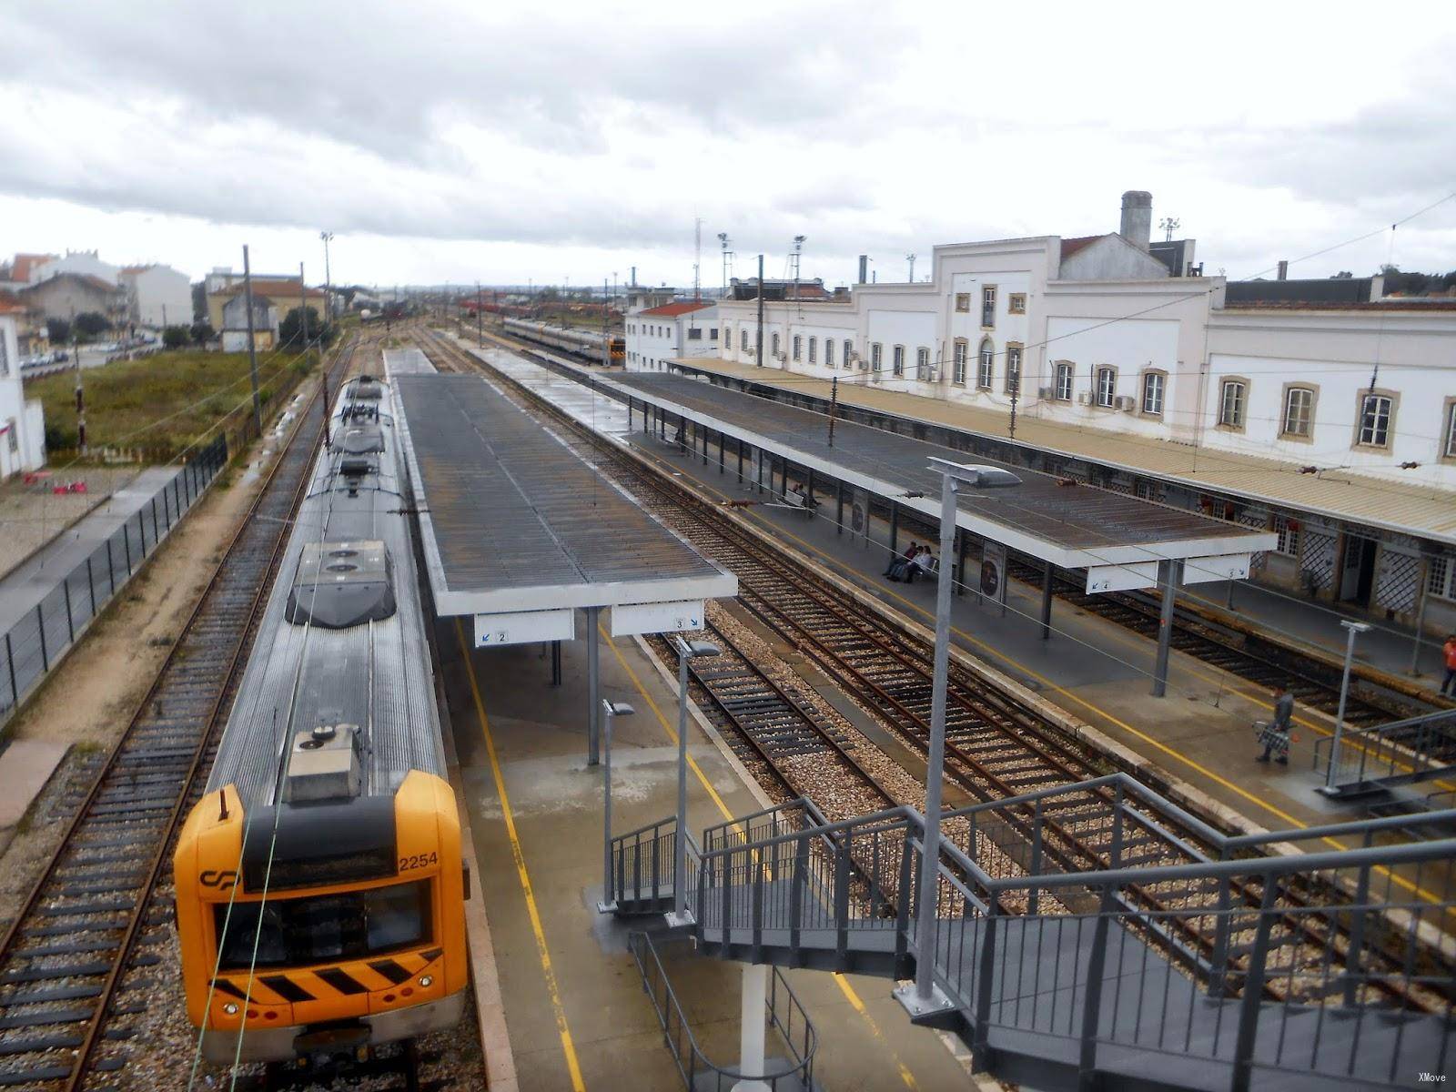
[[[217,903],[218,970],[363,960],[430,941],[430,882],[265,903]],[[256,958],[255,958],[256,945]]]

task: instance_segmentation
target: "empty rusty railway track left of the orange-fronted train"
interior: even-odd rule
[[[348,368],[357,342],[336,357]],[[317,392],[309,402],[316,409]],[[0,938],[0,1086],[121,1070],[165,968],[172,839],[201,795],[288,517],[323,434],[304,411],[144,700]]]

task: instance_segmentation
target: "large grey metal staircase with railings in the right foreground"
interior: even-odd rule
[[[933,960],[977,1069],[1038,1089],[1411,1088],[1452,1057],[1456,812],[1227,837],[1125,775],[942,820],[916,948],[911,808],[799,799],[689,839],[690,927],[727,960],[909,978]],[[673,824],[613,843],[617,913],[674,893]],[[1428,1079],[1427,1079],[1428,1080]]]

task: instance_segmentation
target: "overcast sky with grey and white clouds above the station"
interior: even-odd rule
[[[510,10],[504,10],[504,9]],[[6,4],[0,250],[351,282],[904,280],[1153,192],[1258,274],[1456,191],[1456,4]],[[654,10],[655,9],[655,10]],[[1156,229],[1155,229],[1156,230]],[[1294,275],[1456,268],[1456,199]]]

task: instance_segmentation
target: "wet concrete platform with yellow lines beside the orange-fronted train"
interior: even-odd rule
[[[518,1088],[676,1092],[681,1077],[626,948],[632,926],[597,913],[601,895],[601,767],[585,764],[585,655],[563,648],[550,687],[540,645],[469,651],[441,623],[443,680],[489,917]],[[613,741],[616,828],[670,814],[676,802],[676,693],[633,639],[603,636],[601,693],[638,715]],[[689,783],[700,828],[756,810],[725,751],[695,721]],[[687,958],[670,967],[695,1032],[715,1061],[738,1044],[740,965]],[[791,983],[821,1037],[815,1079],[827,1089],[965,1089],[941,1037],[913,1028],[891,983],[812,971]]]

